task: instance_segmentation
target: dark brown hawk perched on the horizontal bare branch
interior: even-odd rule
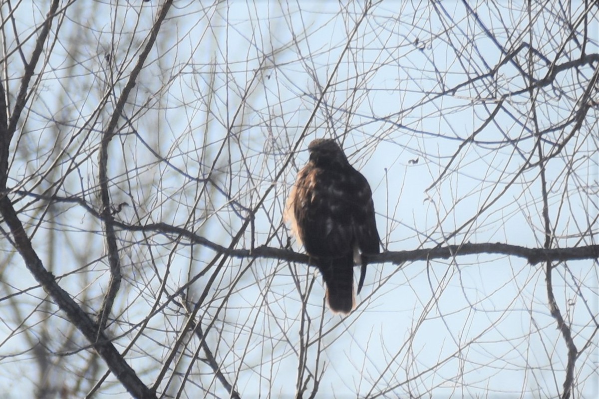
[[[362,264],[359,294],[366,275],[360,253],[379,253],[372,193],[334,141],[316,139],[308,151],[310,160],[299,170],[286,218],[325,280],[329,307],[347,314],[355,307],[354,260]]]

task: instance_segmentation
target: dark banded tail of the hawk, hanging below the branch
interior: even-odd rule
[[[349,314],[356,306],[353,294],[353,254],[315,261],[326,284],[326,301],[329,307],[333,312]]]

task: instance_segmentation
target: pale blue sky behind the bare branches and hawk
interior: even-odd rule
[[[67,13],[59,34],[64,42],[75,41],[80,47],[77,53],[67,45],[53,50],[23,143],[37,154],[52,148],[46,129],[58,120],[59,137],[75,137],[73,145],[94,150],[160,4],[93,2],[89,10],[74,6]],[[282,211],[295,173],[307,160],[308,142],[327,137],[341,142],[352,165],[370,182],[386,251],[467,242],[541,247],[540,169],[525,167],[528,159],[536,160],[537,148],[531,133],[530,93],[507,96],[528,82],[513,63],[495,66],[506,58],[498,44],[514,51],[524,42],[533,43],[539,54],[558,64],[576,59],[576,45],[561,28],[559,16],[564,13],[534,5],[530,22],[519,4],[480,4],[473,6],[477,21],[458,2],[383,2],[359,23],[345,50],[363,6],[340,7],[337,2],[230,2],[218,7],[176,2],[136,82],[135,100],[126,108],[134,129],[123,128],[129,135],[113,144],[122,163],[111,163],[111,175],[118,176],[111,196],[115,203],[135,203],[119,218],[136,223],[135,208],[144,215],[143,223],[183,226],[193,219],[192,229],[226,246],[244,221],[238,217],[240,209],[256,206],[275,182],[256,214],[255,240],[258,245],[283,246],[288,232],[282,226]],[[31,20],[27,10],[19,11],[17,27],[27,32]],[[40,8],[29,18],[38,24],[46,12]],[[574,5],[571,13],[576,21],[580,8]],[[587,54],[598,52],[596,11],[592,17]],[[534,26],[532,36],[529,25]],[[496,33],[497,42],[485,29]],[[560,51],[564,43],[565,50]],[[102,93],[111,77],[106,54],[111,51],[123,79],[117,81],[114,95],[107,96],[104,112],[89,135],[77,136],[74,132],[104,104]],[[570,58],[564,55],[570,53],[574,54]],[[524,48],[514,59],[526,65],[527,54]],[[77,60],[71,69],[69,57]],[[537,79],[549,70],[541,58],[531,57]],[[481,77],[492,69],[494,74]],[[563,72],[552,87],[535,93],[540,129],[573,114],[585,88],[579,82],[588,81],[592,73],[588,65],[578,74]],[[11,70],[11,76],[17,77],[18,71]],[[75,85],[67,89],[66,81]],[[13,78],[10,84],[16,87],[18,80]],[[487,123],[500,102],[501,108]],[[597,110],[589,112],[592,119]],[[581,245],[580,232],[597,215],[597,197],[581,190],[597,190],[599,180],[597,142],[586,129],[544,167],[556,246]],[[550,153],[569,131],[565,127],[547,132],[541,144],[544,153]],[[474,132],[473,142],[467,142]],[[216,156],[223,141],[230,143],[226,162]],[[299,151],[290,155],[298,142]],[[204,144],[205,149],[199,149]],[[156,162],[156,153],[169,163]],[[92,180],[85,184],[86,189],[90,185],[87,194],[93,202],[92,158],[80,170]],[[47,166],[40,161],[36,167]],[[28,168],[26,162],[15,162],[13,177],[29,173]],[[216,171],[214,179],[240,206],[219,193],[211,194],[206,209],[198,206],[198,186],[189,176],[205,177],[210,171]],[[134,182],[128,185],[128,173],[133,172]],[[63,194],[80,190],[78,175],[65,181]],[[65,220],[81,220],[81,226],[78,221],[74,224],[77,228],[85,231],[93,225],[84,209],[67,211]],[[596,224],[590,229],[585,244],[594,242]],[[160,276],[168,270],[167,287],[173,292],[214,256],[201,246],[187,249],[162,237],[155,239],[156,268],[144,267],[137,260],[150,256],[144,245],[137,245],[143,241],[135,233],[122,237],[128,242],[123,257],[130,261],[125,284],[131,288],[123,290],[119,306],[129,312],[131,322],[147,315],[152,296],[157,295],[155,270]],[[100,234],[90,240],[101,245]],[[247,248],[249,243],[245,234],[240,246]],[[302,251],[293,242],[292,248]],[[102,256],[98,249],[92,252]],[[68,253],[63,248],[54,256],[65,259]],[[55,273],[68,275],[81,264],[66,261],[60,267]],[[88,289],[91,293],[86,296],[101,297],[107,278],[101,261],[89,272],[97,275],[90,278],[89,287],[80,287],[77,274],[61,285],[80,297]],[[34,285],[31,279],[17,280],[14,273],[8,281],[15,287]],[[204,290],[207,276],[192,285],[195,298]],[[576,345],[580,349],[587,340],[592,342],[577,360],[575,374],[579,395],[592,397],[598,386],[597,262],[568,262],[555,269],[553,278]],[[309,291],[310,322],[302,318],[298,291]],[[547,307],[543,266],[531,266],[522,258],[480,254],[401,267],[371,265],[358,307],[347,318],[323,312],[322,282],[303,264],[231,260],[210,293],[214,299],[201,313],[204,324],[213,323],[208,342],[219,349],[223,369],[235,379],[238,390],[250,397],[256,392],[264,397],[268,392],[273,397],[295,394],[302,337],[310,343],[308,369],[326,370],[320,394],[331,392],[340,398],[555,397],[564,379],[565,345]],[[148,298],[140,299],[144,294]],[[174,312],[153,321],[157,330],[170,328],[161,342],[176,339],[173,325],[182,319]],[[137,352],[147,351],[152,361],[136,356],[131,360],[134,368],[152,370],[168,353],[168,345],[153,348],[153,339],[158,338],[150,334],[141,338]],[[26,345],[13,337],[3,354]],[[197,344],[191,342],[189,348],[193,345]],[[319,357],[321,346],[325,349]],[[26,374],[28,361],[19,357],[14,361]],[[197,376],[198,385],[222,394],[210,370],[197,367],[206,372]],[[152,371],[148,375],[147,380],[153,381]],[[11,387],[11,377],[0,373],[0,386]],[[99,397],[126,397],[122,390],[111,389]],[[193,395],[193,386],[187,389]]]

